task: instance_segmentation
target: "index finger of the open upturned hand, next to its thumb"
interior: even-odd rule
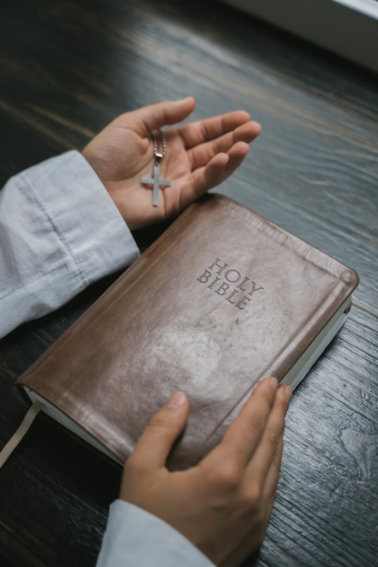
[[[226,132],[235,130],[237,126],[249,121],[249,114],[244,110],[227,112],[226,114],[196,120],[180,126],[179,134],[184,141],[186,149],[197,146],[199,143],[218,138]]]

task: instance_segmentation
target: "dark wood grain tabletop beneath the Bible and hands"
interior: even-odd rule
[[[292,399],[271,522],[246,565],[377,565],[376,77],[218,2],[7,1],[0,41],[0,183],[159,100],[194,95],[196,118],[245,108],[261,122],[217,191],[350,265],[360,285]],[[114,277],[0,342],[1,445],[27,407],[16,376]],[[95,565],[119,482],[37,417],[0,472],[1,564]]]

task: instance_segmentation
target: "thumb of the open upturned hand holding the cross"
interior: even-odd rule
[[[137,132],[141,136],[148,136],[153,130],[185,120],[193,112],[195,105],[193,96],[168,100],[129,112],[128,120],[135,122]]]

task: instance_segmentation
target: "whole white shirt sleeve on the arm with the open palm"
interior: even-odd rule
[[[138,256],[128,226],[78,151],[11,177],[0,191],[0,337]]]

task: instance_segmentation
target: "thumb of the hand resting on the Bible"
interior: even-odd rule
[[[138,470],[164,467],[173,443],[184,429],[188,413],[188,398],[176,392],[151,418],[130,456]]]

